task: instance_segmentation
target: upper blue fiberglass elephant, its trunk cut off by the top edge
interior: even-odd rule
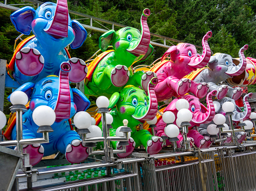
[[[11,21],[22,34],[29,35],[31,30],[34,34],[21,41],[9,63],[9,74],[14,80],[24,84],[58,75],[62,62],[71,64],[70,81],[84,80],[85,62],[75,57],[70,59],[65,47],[81,47],[87,32],[78,21],[71,21],[67,0],[44,3],[37,10],[23,7],[11,14]]]

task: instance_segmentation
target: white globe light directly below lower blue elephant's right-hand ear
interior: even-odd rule
[[[79,111],[74,116],[74,124],[78,129],[87,129],[92,124],[92,117],[85,111]]]

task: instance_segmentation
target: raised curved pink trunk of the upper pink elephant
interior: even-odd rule
[[[189,66],[192,67],[193,69],[197,68],[204,68],[205,65],[209,62],[210,57],[211,57],[211,49],[208,44],[208,39],[211,38],[212,32],[208,31],[206,35],[202,39],[202,46],[203,46],[203,53],[199,57],[195,57],[195,59],[191,59],[189,62]]]

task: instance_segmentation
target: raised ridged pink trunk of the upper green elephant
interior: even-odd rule
[[[139,56],[139,55],[144,55],[147,53],[148,51],[148,47],[149,47],[149,43],[150,43],[150,31],[148,28],[148,24],[147,24],[147,18],[150,15],[150,10],[149,9],[145,9],[143,10],[143,13],[141,15],[141,20],[140,20],[140,24],[141,24],[141,38],[140,41],[138,43],[138,45],[136,47],[134,47],[131,50],[128,50],[128,52]]]

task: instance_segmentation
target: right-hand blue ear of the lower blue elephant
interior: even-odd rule
[[[72,88],[72,92],[74,103],[77,107],[76,111],[86,111],[88,107],[91,105],[89,99],[79,89]]]

